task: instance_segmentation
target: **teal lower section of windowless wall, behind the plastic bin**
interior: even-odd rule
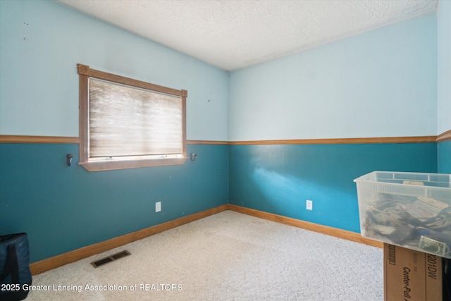
[[[353,180],[378,170],[435,173],[437,144],[231,145],[229,202],[359,232]]]

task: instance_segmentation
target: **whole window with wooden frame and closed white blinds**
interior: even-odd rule
[[[78,64],[80,165],[88,171],[184,164],[187,91]]]

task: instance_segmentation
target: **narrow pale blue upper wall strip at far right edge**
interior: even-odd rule
[[[440,1],[438,39],[438,134],[451,130],[451,1]]]

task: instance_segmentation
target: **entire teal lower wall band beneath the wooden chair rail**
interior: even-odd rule
[[[227,202],[358,233],[354,178],[451,173],[451,141],[188,145],[187,152],[196,161],[88,172],[77,165],[75,144],[0,144],[0,235],[27,232],[36,262]]]

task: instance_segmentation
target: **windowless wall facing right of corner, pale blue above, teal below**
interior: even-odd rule
[[[228,137],[437,135],[437,77],[431,12],[234,71]],[[229,156],[230,203],[355,232],[354,178],[438,168],[435,143],[242,145],[231,146]]]

